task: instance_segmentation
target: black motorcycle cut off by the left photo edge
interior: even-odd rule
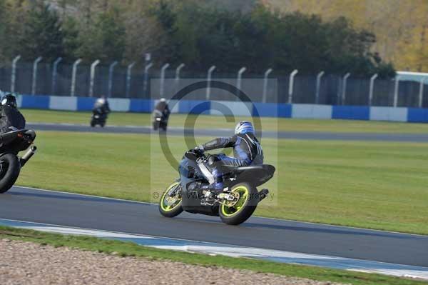
[[[36,146],[32,146],[34,139],[36,133],[28,129],[14,129],[0,134],[0,193],[5,193],[14,186],[21,167],[36,152]],[[19,151],[26,149],[26,154],[19,157]]]

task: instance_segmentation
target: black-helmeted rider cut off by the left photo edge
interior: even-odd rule
[[[13,131],[14,129],[24,129],[25,119],[17,109],[16,97],[6,94],[0,102],[0,133]]]

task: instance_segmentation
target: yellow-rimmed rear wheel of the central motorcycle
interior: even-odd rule
[[[236,197],[235,201],[223,201],[218,208],[218,214],[225,224],[242,224],[257,207],[257,189],[248,183],[240,183],[232,187],[230,194]]]

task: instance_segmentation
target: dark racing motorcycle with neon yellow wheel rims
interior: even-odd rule
[[[220,216],[225,224],[238,225],[246,221],[258,203],[269,191],[256,187],[265,184],[275,172],[268,164],[256,166],[220,166],[223,173],[223,191],[206,190],[214,177],[208,160],[210,154],[186,151],[178,167],[180,179],[170,184],[161,195],[159,211],[163,216],[174,217],[183,211],[193,214]]]

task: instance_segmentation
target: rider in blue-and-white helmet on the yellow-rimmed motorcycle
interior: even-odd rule
[[[263,164],[263,149],[255,137],[253,124],[250,121],[240,121],[235,126],[235,135],[229,138],[218,138],[195,147],[196,152],[210,151],[212,149],[233,148],[233,156],[218,154],[209,156],[208,165],[212,169],[215,179],[208,190],[222,191],[223,178],[220,171],[222,165],[250,166]]]

